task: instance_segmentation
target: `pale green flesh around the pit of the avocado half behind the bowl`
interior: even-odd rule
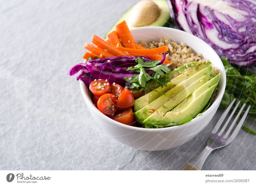
[[[159,8],[160,10],[160,15],[158,16],[158,18],[152,22],[151,24],[148,24],[147,26],[156,26],[156,27],[163,27],[166,23],[168,23],[169,19],[171,18],[170,16],[170,12],[168,9],[168,4],[166,2],[166,0],[152,0],[154,3],[157,4],[158,7],[156,7],[157,9]],[[123,20],[126,21],[126,23],[128,24],[129,29],[133,29],[136,27],[133,27],[132,25],[129,25],[129,17],[130,17],[130,13],[132,11],[133,6],[127,10],[114,24],[114,26],[108,31],[108,33],[105,35],[105,39],[107,38],[107,35],[112,32],[113,30],[115,30],[115,26],[122,22]]]

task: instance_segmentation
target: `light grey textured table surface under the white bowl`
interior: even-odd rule
[[[218,120],[167,151],[116,142],[86,107],[67,72],[83,45],[106,31],[136,0],[2,1],[0,6],[0,169],[178,170],[195,158]],[[249,124],[251,126],[251,124]],[[204,170],[256,170],[255,136],[244,130],[214,151]]]

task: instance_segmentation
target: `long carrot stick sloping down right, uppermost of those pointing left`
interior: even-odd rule
[[[123,50],[116,48],[116,46],[106,42],[105,40],[101,39],[97,35],[93,35],[92,43],[97,45],[97,47],[108,51],[109,53],[113,54],[114,56],[127,56]]]

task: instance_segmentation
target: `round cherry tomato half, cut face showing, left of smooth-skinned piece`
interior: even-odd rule
[[[97,101],[97,107],[103,114],[114,114],[117,110],[116,96],[113,94],[104,94]]]

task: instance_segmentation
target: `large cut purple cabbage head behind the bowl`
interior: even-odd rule
[[[256,63],[255,0],[167,0],[182,30],[210,44],[220,57],[247,66]]]

